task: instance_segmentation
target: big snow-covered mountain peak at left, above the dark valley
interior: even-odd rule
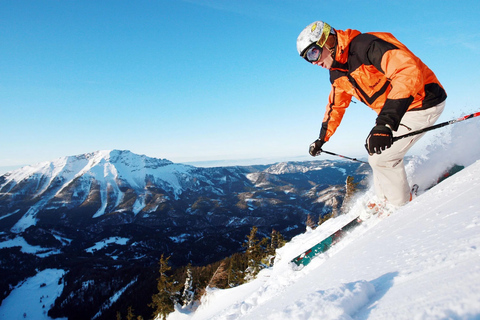
[[[186,189],[210,188],[221,193],[209,177],[196,179],[195,171],[195,167],[129,151],[99,151],[7,173],[0,190],[9,207],[38,199],[11,229],[22,232],[36,224],[37,214],[45,208],[72,208],[97,202],[99,207],[92,218],[122,211],[136,215],[140,211],[155,211],[166,197],[178,199]],[[161,189],[167,195],[152,197],[151,188]]]

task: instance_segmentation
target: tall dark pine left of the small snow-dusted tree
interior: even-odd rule
[[[171,276],[166,274],[171,270],[171,267],[168,265],[169,259],[170,257],[165,259],[162,254],[158,262],[160,265],[160,276],[157,279],[158,293],[152,296],[152,302],[148,305],[155,310],[153,312],[154,319],[166,319],[167,315],[175,310],[173,297],[176,294],[176,288]]]

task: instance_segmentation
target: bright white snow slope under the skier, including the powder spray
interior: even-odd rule
[[[370,217],[295,270],[291,259],[364,210],[370,189],[347,215],[277,250],[274,266],[257,279],[210,290],[195,311],[179,308],[168,320],[480,319],[479,129],[478,121],[456,125],[451,135],[464,140],[444,134],[410,161],[409,178],[421,192],[409,204]],[[428,189],[453,164],[466,168]]]

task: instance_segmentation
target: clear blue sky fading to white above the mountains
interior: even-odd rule
[[[105,149],[174,162],[310,159],[330,83],[295,43],[315,20],[393,33],[446,88],[440,121],[457,118],[480,110],[479,9],[438,0],[0,0],[0,167]],[[325,149],[365,156],[374,121],[352,104]]]

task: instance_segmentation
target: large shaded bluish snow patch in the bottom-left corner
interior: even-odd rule
[[[60,296],[65,274],[60,269],[45,269],[20,283],[0,306],[0,318],[9,320],[50,320],[47,313]],[[21,308],[19,308],[21,306]],[[59,319],[59,318],[57,318]]]

